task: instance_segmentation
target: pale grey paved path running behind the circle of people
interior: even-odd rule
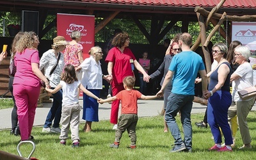
[[[83,100],[79,100],[79,104],[83,106]],[[44,103],[43,108],[36,108],[35,122],[34,125],[44,125],[45,118],[49,109],[51,108],[51,103]],[[156,100],[138,100],[138,116],[157,116],[161,113],[163,108],[163,99]],[[204,113],[206,106],[194,103],[192,113]],[[104,103],[99,106],[99,120],[109,120],[111,111],[111,104]],[[11,124],[11,113],[12,108],[0,109],[0,130],[10,129]],[[119,111],[120,113],[120,111]],[[80,121],[82,120],[83,110],[80,112]]]

